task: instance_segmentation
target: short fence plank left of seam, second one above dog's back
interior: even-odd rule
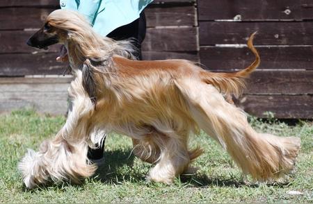
[[[142,49],[143,51],[198,51],[197,36],[197,28],[147,28]]]

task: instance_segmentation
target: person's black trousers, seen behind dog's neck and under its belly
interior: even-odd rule
[[[119,28],[116,28],[114,31],[106,35],[106,37],[111,37],[114,40],[125,40],[128,38],[132,38],[135,40],[134,46],[138,49],[138,60],[142,59],[141,56],[141,43],[145,39],[145,30],[146,30],[146,24],[145,24],[145,13],[141,12],[141,15],[138,19],[136,19],[134,22],[131,22],[130,24],[127,24],[125,26],[121,26]],[[102,146],[96,145],[98,148],[88,148],[88,158],[90,160],[99,160],[103,158],[104,154],[104,143],[105,143],[105,137],[104,142],[102,142]]]

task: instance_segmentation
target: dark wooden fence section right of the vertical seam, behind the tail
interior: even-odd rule
[[[258,31],[262,62],[241,107],[259,117],[271,111],[279,118],[313,118],[313,1],[198,0],[198,14],[200,60],[211,70],[248,66],[253,56],[238,44]]]

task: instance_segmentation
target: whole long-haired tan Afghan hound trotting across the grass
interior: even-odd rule
[[[19,163],[26,187],[47,180],[93,175],[87,158],[110,132],[131,137],[134,154],[153,164],[147,178],[170,184],[202,154],[188,148],[188,139],[204,130],[231,155],[244,175],[259,181],[280,178],[294,169],[300,149],[297,137],[256,133],[246,114],[232,103],[255,61],[235,73],[212,73],[188,60],[138,61],[128,42],[100,37],[86,19],[69,10],[55,10],[28,44],[39,49],[64,44],[74,80],[68,93],[72,107],[56,137],[29,150]]]

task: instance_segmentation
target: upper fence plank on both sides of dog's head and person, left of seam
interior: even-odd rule
[[[0,8],[0,29],[40,28],[53,8]],[[147,27],[195,26],[194,6],[153,6],[145,10]],[[10,20],[8,20],[10,17]],[[25,20],[26,19],[26,20]]]

